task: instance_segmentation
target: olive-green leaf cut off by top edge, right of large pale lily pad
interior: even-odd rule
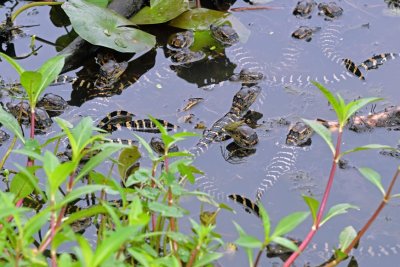
[[[136,24],[164,23],[176,18],[187,9],[185,0],[150,0],[150,7],[142,8],[130,21]]]

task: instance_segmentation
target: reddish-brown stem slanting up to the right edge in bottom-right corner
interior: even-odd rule
[[[360,241],[361,237],[363,237],[363,235],[368,231],[369,227],[374,223],[374,221],[376,220],[376,218],[379,216],[379,214],[381,213],[381,211],[383,210],[383,208],[386,206],[386,204],[389,202],[390,200],[390,194],[393,190],[393,186],[397,180],[397,177],[400,174],[400,167],[397,168],[396,173],[393,175],[392,180],[390,181],[388,190],[386,191],[386,194],[383,196],[383,199],[381,201],[381,203],[379,204],[378,208],[375,210],[375,212],[372,214],[372,216],[369,218],[369,220],[367,221],[367,223],[361,228],[361,230],[357,233],[357,236],[353,239],[353,241],[351,241],[350,245],[347,246],[347,248],[344,250],[345,254],[349,254],[350,251],[356,246],[356,244],[358,244],[358,242]],[[324,267],[333,267],[338,265],[342,260],[333,260],[332,262],[329,262],[328,264],[326,264]]]

